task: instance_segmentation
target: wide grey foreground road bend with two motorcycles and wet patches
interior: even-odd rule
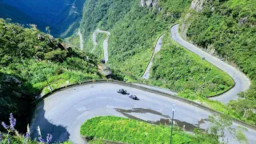
[[[118,94],[117,90],[121,88],[130,94],[136,94],[140,100],[134,101],[128,98],[128,95]],[[187,131],[192,131],[198,126],[202,129],[208,126],[206,118],[210,112],[186,102],[128,86],[99,83],[62,90],[39,102],[30,123],[31,136],[38,137],[36,129],[40,126],[43,138],[49,133],[53,134],[56,142],[69,139],[74,143],[85,143],[79,130],[88,118],[114,115],[151,123],[168,123],[172,114],[172,103],[176,104],[174,119],[178,126],[185,125]],[[256,132],[248,130],[246,137],[249,142],[256,143]],[[230,139],[230,143],[238,142]]]

